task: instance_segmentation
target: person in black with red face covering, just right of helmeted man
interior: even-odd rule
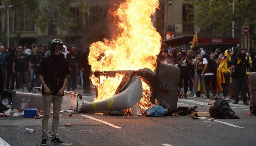
[[[67,90],[70,91],[72,84],[72,91],[76,89],[76,77],[78,72],[78,64],[77,64],[77,55],[76,55],[76,47],[71,46],[71,52],[66,55],[66,58],[69,61],[70,66],[70,78],[68,79]]]

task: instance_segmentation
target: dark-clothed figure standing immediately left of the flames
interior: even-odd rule
[[[83,72],[83,93],[90,93],[90,90],[91,90],[91,87],[90,87],[91,66],[89,65],[88,55],[89,55],[89,52],[85,51],[82,54],[82,59],[81,59],[81,70]]]

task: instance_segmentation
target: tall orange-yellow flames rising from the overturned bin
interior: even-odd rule
[[[92,71],[154,70],[161,36],[154,28],[151,16],[158,6],[158,0],[127,0],[120,4],[113,13],[118,18],[116,26],[120,32],[114,35],[117,37],[90,46],[88,59]],[[101,76],[99,83],[98,78],[92,76],[91,81],[98,88],[95,101],[113,96],[121,80],[120,74],[108,79]]]

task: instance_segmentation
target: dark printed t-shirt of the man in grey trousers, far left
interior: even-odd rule
[[[28,69],[29,66],[29,55],[22,53],[22,54],[16,54],[14,58],[16,71],[18,72],[25,72]]]

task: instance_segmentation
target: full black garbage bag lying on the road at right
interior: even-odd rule
[[[209,113],[212,118],[226,119],[240,119],[236,113],[230,108],[229,101],[225,99],[218,99],[211,105]]]

